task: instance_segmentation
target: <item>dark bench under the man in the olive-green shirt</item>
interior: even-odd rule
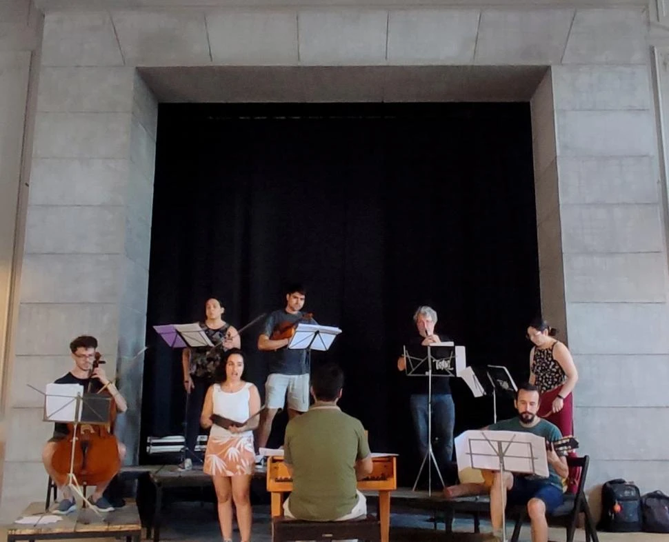
[[[358,539],[381,541],[381,522],[376,516],[348,521],[302,521],[283,516],[272,518],[272,542],[297,540],[332,541]]]

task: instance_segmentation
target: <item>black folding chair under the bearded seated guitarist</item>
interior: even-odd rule
[[[581,479],[579,480],[579,487],[576,494],[566,494],[564,496],[564,503],[551,514],[548,514],[548,523],[550,525],[558,524],[563,525],[566,528],[567,542],[574,541],[574,533],[576,532],[576,527],[579,522],[579,514],[581,512],[583,512],[583,514],[586,516],[586,541],[590,542],[590,540],[592,540],[594,542],[599,542],[599,538],[597,537],[597,529],[595,528],[595,521],[592,519],[590,506],[588,506],[588,499],[586,498],[586,493],[583,490],[586,485],[586,476],[588,474],[589,462],[590,458],[587,455],[583,457],[567,457],[567,464],[570,466],[570,468],[581,468]],[[513,529],[513,535],[511,536],[511,542],[518,542],[518,537],[520,536],[520,530],[523,526],[523,521],[525,521],[528,515],[527,507],[515,507],[513,512],[518,515],[515,528]]]

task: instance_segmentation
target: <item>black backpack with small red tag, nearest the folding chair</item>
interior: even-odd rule
[[[619,478],[601,486],[601,519],[597,529],[609,532],[643,530],[641,492],[634,482]]]

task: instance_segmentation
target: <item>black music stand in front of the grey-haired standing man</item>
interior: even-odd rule
[[[417,352],[418,349],[420,349],[419,352]],[[419,355],[412,355],[417,353]],[[423,356],[423,354],[427,355]],[[455,368],[455,343],[448,341],[432,343],[427,346],[421,345],[420,347],[412,348],[411,353],[404,347],[404,359],[406,361],[406,374],[408,377],[428,377],[428,451],[423,456],[421,468],[416,476],[412,491],[416,490],[418,481],[423,473],[423,467],[427,462],[428,496],[432,496],[432,463],[434,463],[437,474],[439,474],[441,486],[446,486],[443,483],[443,476],[441,476],[435,452],[432,450],[432,377],[453,378],[457,376]]]

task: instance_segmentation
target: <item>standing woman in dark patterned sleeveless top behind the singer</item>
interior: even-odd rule
[[[186,449],[181,469],[190,470],[195,443],[200,432],[200,414],[207,389],[214,381],[214,371],[223,353],[230,348],[241,348],[239,332],[234,326],[223,321],[223,308],[218,299],[212,297],[204,305],[206,319],[200,322],[203,332],[212,341],[214,348],[184,348],[181,352],[183,367],[183,388],[186,390]]]

